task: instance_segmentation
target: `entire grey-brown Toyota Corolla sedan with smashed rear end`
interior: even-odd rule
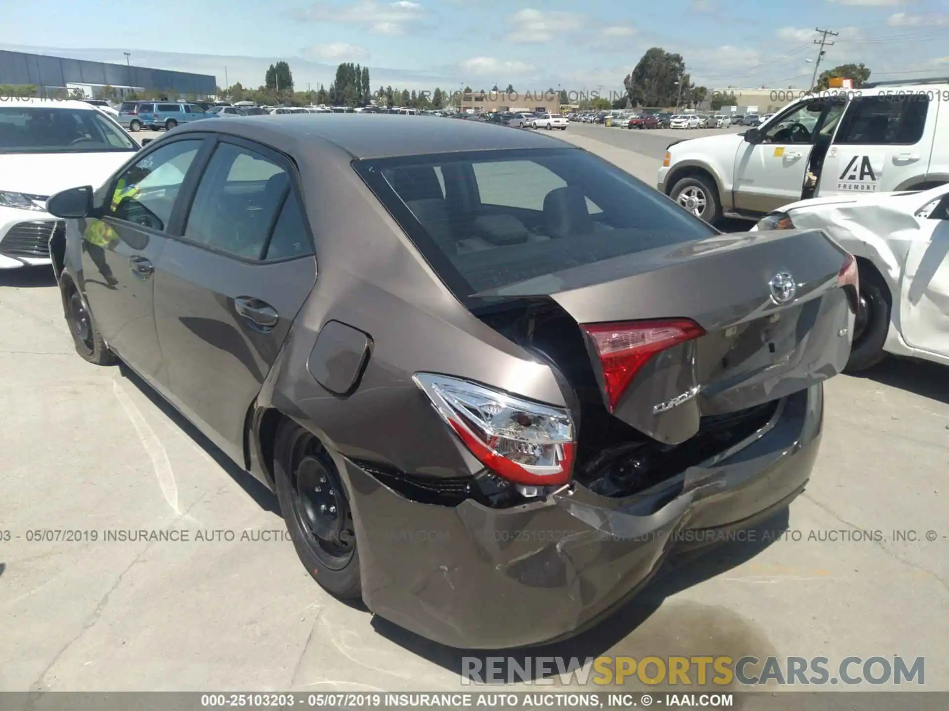
[[[273,488],[328,592],[449,647],[577,632],[783,509],[850,350],[820,230],[720,234],[535,132],[207,121],[49,209],[79,354]]]

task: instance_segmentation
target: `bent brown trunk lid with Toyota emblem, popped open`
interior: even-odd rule
[[[716,235],[562,272],[564,288],[550,298],[578,324],[691,319],[704,330],[652,356],[612,409],[676,445],[703,416],[754,408],[844,369],[853,327],[838,284],[846,261],[820,230]],[[589,339],[587,350],[606,398]]]

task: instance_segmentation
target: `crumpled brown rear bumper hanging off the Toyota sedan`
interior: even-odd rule
[[[791,501],[808,481],[823,411],[822,385],[797,392],[743,442],[626,499],[574,483],[508,509],[419,503],[346,460],[363,599],[450,647],[568,637],[623,604],[679,548]]]

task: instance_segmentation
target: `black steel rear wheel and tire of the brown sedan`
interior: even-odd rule
[[[362,597],[349,493],[326,447],[285,420],[273,451],[277,500],[297,556],[327,593]]]

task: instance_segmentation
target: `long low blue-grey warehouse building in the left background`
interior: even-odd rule
[[[118,97],[133,91],[174,91],[203,98],[214,96],[217,89],[217,79],[210,74],[0,50],[0,85],[4,84],[35,86],[38,96],[80,89],[87,98],[98,98],[105,86],[113,87]]]

